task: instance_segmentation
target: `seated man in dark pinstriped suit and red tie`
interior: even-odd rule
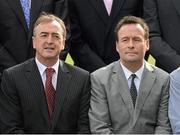
[[[35,59],[4,70],[2,133],[89,133],[89,73],[59,60],[66,28],[54,15],[35,23]]]

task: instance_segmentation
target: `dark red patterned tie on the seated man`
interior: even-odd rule
[[[45,82],[45,94],[46,94],[46,100],[48,104],[48,111],[49,111],[49,117],[50,121],[52,118],[53,110],[54,110],[54,99],[55,99],[55,89],[52,84],[52,76],[54,73],[53,68],[46,68],[46,82]]]

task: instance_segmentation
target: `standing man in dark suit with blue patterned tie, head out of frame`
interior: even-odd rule
[[[28,1],[28,0],[25,0]],[[66,0],[29,0],[29,22],[23,0],[1,0],[0,4],[0,79],[4,69],[34,56],[32,29],[42,11],[51,12],[67,22]],[[26,10],[27,11],[27,10]],[[65,59],[63,52],[62,58]]]

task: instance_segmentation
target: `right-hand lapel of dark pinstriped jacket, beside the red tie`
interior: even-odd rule
[[[55,108],[54,108],[54,118],[52,122],[52,131],[58,121],[61,110],[63,108],[63,103],[68,92],[68,85],[71,80],[71,73],[67,69],[66,65],[61,61],[59,66],[58,81],[56,88],[55,97]]]

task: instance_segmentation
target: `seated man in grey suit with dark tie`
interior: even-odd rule
[[[147,24],[127,16],[117,24],[115,34],[120,60],[91,74],[91,132],[171,133],[169,75],[144,60],[149,50]]]

